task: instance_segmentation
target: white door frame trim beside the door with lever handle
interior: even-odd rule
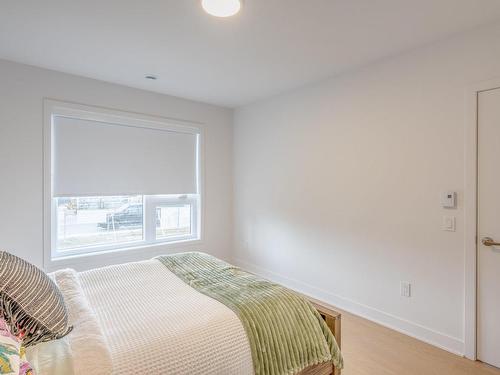
[[[464,355],[477,359],[478,105],[479,93],[500,88],[500,78],[475,83],[466,92],[464,181]]]

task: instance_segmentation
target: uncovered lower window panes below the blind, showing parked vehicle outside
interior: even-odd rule
[[[55,247],[61,256],[197,238],[196,195],[64,197],[54,202]]]

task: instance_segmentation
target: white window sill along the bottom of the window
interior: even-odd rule
[[[46,255],[44,268],[47,272],[53,272],[62,268],[74,268],[77,271],[85,271],[113,264],[148,260],[155,256],[173,254],[178,251],[196,251],[200,250],[201,245],[203,245],[201,239],[186,239],[176,242],[145,244],[57,258],[52,258],[49,253]]]

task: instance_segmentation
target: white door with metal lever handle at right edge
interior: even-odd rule
[[[500,89],[478,100],[477,356],[500,367]]]

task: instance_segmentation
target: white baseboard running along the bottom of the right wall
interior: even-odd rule
[[[401,332],[405,335],[416,338],[438,348],[449,351],[453,354],[463,356],[464,342],[456,337],[446,335],[428,327],[424,327],[418,323],[402,319],[395,315],[375,309],[373,307],[361,304],[345,297],[330,293],[324,289],[309,285],[299,280],[277,274],[273,271],[266,270],[262,267],[248,263],[241,259],[234,259],[235,263],[259,276],[265,277],[272,281],[283,284],[298,292],[309,295],[318,300],[338,307],[354,315],[358,315],[365,319],[371,320],[387,328]]]

